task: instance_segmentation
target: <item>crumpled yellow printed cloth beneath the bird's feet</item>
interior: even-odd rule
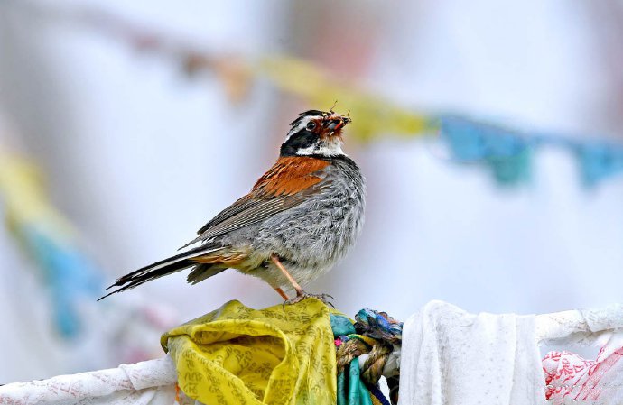
[[[329,309],[318,299],[253,309],[230,301],[163,335],[181,391],[216,404],[336,402]]]

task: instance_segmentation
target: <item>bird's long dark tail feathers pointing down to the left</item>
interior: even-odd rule
[[[118,278],[113,285],[107,287],[107,290],[114,287],[119,287],[118,289],[107,293],[105,296],[98,299],[98,301],[105,299],[116,292],[134,289],[136,286],[139,286],[144,282],[159,279],[160,277],[172,274],[173,272],[180,272],[183,269],[197,264],[197,262],[193,262],[191,260],[192,258],[218,251],[221,248],[222,246],[219,244],[204,244],[189,251],[161,260],[160,262],[154,262],[148,266],[136,270],[135,272],[130,272],[125,276]]]

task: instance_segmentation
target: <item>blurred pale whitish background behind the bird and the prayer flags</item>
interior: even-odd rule
[[[215,53],[313,60],[414,111],[623,141],[618,1],[79,3]],[[331,105],[305,105],[264,82],[232,104],[214,76],[187,78],[177,60],[33,4],[78,2],[0,4],[0,110],[17,134],[10,142],[45,170],[106,281],[175,253],[273,163],[298,112]],[[348,258],[306,289],[330,293],[346,314],[369,307],[404,319],[431,299],[516,313],[620,301],[623,177],[584,189],[573,157],[545,149],[528,185],[500,188],[432,140],[364,145],[347,133],[346,143],[367,177],[367,224]],[[33,267],[0,230],[0,382],[116,365],[76,358],[74,344],[54,335]],[[185,277],[109,300],[140,297],[180,320],[229,299],[280,302],[235,271],[197,286]],[[157,336],[152,343],[157,351]]]

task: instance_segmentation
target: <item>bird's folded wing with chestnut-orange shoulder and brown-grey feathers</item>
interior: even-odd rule
[[[256,224],[301,204],[321,190],[321,170],[329,165],[329,161],[312,157],[279,158],[246,196],[202,226],[199,236],[183,247]]]

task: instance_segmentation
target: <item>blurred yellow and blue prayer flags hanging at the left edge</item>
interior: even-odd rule
[[[0,198],[8,229],[41,270],[56,329],[63,337],[77,336],[80,299],[98,296],[101,272],[79,246],[70,222],[47,198],[43,183],[31,161],[0,153]]]

